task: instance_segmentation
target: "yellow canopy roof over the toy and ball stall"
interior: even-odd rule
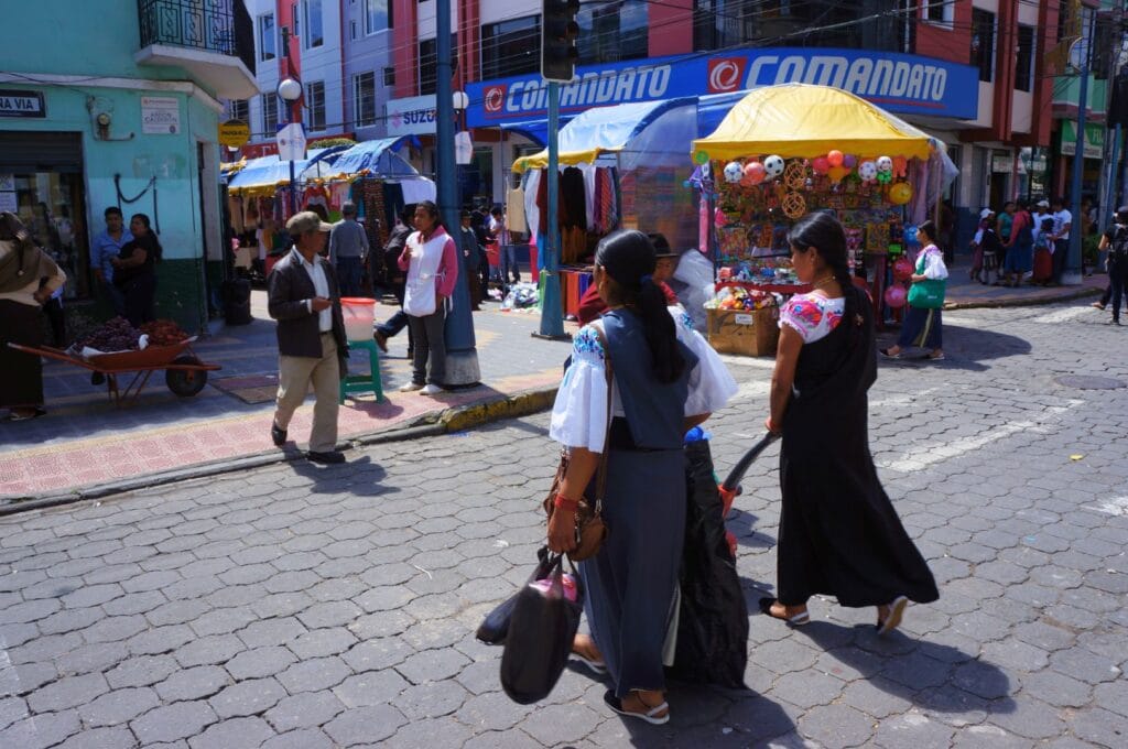
[[[750,91],[711,135],[693,142],[690,153],[699,164],[768,153],[811,159],[831,149],[857,157],[927,159],[928,141],[923,131],[853,94],[785,83]]]

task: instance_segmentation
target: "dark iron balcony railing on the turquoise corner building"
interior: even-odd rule
[[[252,38],[243,0],[138,0],[138,20],[142,49],[164,44],[238,56],[254,70],[254,51],[241,43]]]

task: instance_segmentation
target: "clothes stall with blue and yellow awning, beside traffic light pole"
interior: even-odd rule
[[[574,315],[591,282],[584,265],[618,228],[661,232],[672,247],[696,246],[697,209],[685,190],[685,146],[697,134],[695,98],[588,109],[559,132],[561,291]],[[547,151],[517,159],[523,226],[543,246]],[[513,226],[512,219],[510,223]]]

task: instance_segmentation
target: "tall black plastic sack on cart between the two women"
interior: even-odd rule
[[[670,676],[744,687],[748,605],[724,537],[708,442],[686,446],[686,540],[681,555],[678,646]]]

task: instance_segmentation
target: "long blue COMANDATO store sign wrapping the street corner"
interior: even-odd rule
[[[710,58],[679,55],[589,65],[561,85],[561,111],[726,94],[778,83],[832,86],[898,114],[975,120],[976,68],[896,52],[765,49]],[[547,83],[539,76],[472,83],[470,126],[543,118]]]

